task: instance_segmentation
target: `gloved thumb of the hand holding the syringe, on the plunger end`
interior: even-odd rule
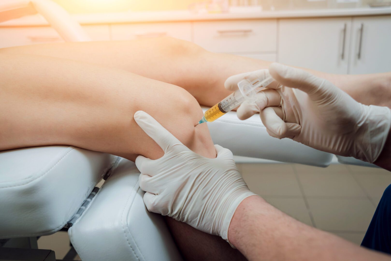
[[[302,90],[311,97],[312,100],[323,99],[326,87],[325,79],[316,77],[304,70],[272,63],[269,67],[271,76],[280,84]],[[337,88],[337,87],[335,87]]]

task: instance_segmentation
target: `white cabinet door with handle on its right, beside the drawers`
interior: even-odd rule
[[[347,74],[351,18],[282,19],[278,61],[322,72]]]

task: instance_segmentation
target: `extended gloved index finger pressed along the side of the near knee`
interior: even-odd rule
[[[156,121],[151,115],[143,111],[137,111],[133,116],[136,123],[140,128],[142,128],[149,137],[151,137],[164,153],[170,145],[182,144],[174,135],[172,135],[168,130],[166,130],[161,124]]]

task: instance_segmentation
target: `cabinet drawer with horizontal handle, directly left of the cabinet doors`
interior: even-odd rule
[[[276,52],[277,20],[195,22],[194,43],[212,52]]]

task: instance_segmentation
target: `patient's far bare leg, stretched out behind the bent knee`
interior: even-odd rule
[[[229,94],[223,88],[227,77],[268,68],[270,64],[257,59],[211,53],[194,43],[168,37],[53,43],[5,48],[0,49],[1,52],[39,54],[122,68],[181,86],[205,106],[212,106]],[[391,107],[391,73],[347,76],[310,72],[332,81],[361,103]]]

